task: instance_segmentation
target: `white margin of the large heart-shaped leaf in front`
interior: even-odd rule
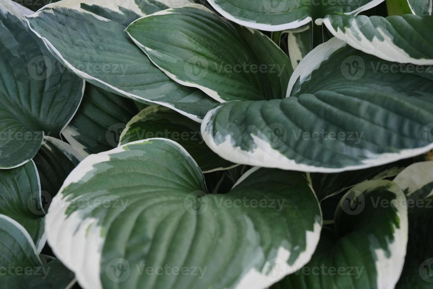
[[[65,187],[75,182],[83,182],[90,179],[93,176],[94,166],[100,162],[106,162],[110,160],[110,155],[120,153],[124,151],[123,147],[129,146],[135,143],[145,143],[151,140],[163,140],[168,143],[176,145],[180,152],[195,164],[197,167],[197,173],[201,173],[197,162],[191,157],[191,155],[178,143],[173,140],[165,138],[150,138],[146,140],[137,140],[131,143],[126,143],[122,146],[118,146],[110,151],[93,154],[85,158],[68,176],[59,190],[59,193],[53,198],[52,205],[48,210],[48,214],[45,217],[45,223],[48,233],[48,244],[51,245],[53,252],[61,262],[75,273],[75,277],[78,283],[86,289],[102,289],[102,283],[100,280],[100,260],[101,250],[105,242],[105,238],[100,237],[102,227],[98,226],[98,219],[96,218],[85,218],[80,217],[80,211],[74,211],[72,214],[67,216],[65,214],[70,201],[62,198],[61,192]],[[252,172],[255,172],[259,168],[252,168],[242,175],[241,179],[244,180]],[[239,181],[237,183],[240,183]],[[314,192],[311,192],[317,200],[317,196]],[[273,259],[275,261],[273,267],[269,271],[268,275],[265,276],[262,272],[257,271],[255,268],[250,270],[242,276],[242,279],[236,286],[236,289],[243,288],[265,288],[271,286],[273,283],[284,278],[284,276],[296,272],[299,268],[304,266],[310,261],[314,251],[316,250],[317,244],[320,239],[320,231],[322,229],[322,211],[320,209],[319,201],[317,200],[317,206],[320,210],[320,222],[315,221],[313,225],[313,231],[306,231],[306,244],[307,248],[302,252],[295,263],[292,266],[287,264],[287,260],[290,257],[290,252],[283,247],[280,247],[277,253],[277,257]],[[67,228],[67,230],[64,230]],[[267,263],[264,264],[263,268],[269,268]],[[281,268],[284,268],[285,274],[273,274],[280,272]]]

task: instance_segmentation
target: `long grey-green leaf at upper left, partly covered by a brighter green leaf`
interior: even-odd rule
[[[216,102],[168,78],[124,32],[147,13],[184,3],[190,1],[64,0],[48,4],[27,20],[59,61],[91,84],[201,121]]]

